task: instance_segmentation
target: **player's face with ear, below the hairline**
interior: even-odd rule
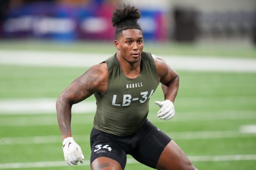
[[[122,31],[119,40],[115,41],[116,48],[120,51],[122,58],[128,63],[134,64],[141,60],[143,50],[143,35],[138,29]]]

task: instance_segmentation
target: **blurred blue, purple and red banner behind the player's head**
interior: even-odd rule
[[[30,37],[55,40],[113,40],[111,23],[114,6],[89,4],[75,6],[40,2],[11,10],[0,25],[5,38]],[[141,10],[139,19],[144,38],[167,39],[167,19],[163,11]],[[1,31],[0,31],[1,32]]]

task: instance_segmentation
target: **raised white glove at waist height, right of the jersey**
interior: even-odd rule
[[[173,102],[170,100],[164,101],[155,101],[155,103],[161,107],[160,110],[157,112],[157,117],[160,119],[168,120],[175,115],[175,110],[173,106]]]

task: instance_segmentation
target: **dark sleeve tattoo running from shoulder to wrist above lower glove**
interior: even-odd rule
[[[57,118],[61,134],[71,134],[71,107],[95,92],[95,84],[100,81],[100,70],[90,68],[83,75],[74,80],[61,94],[56,102]]]

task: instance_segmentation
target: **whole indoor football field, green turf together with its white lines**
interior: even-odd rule
[[[209,62],[256,60],[255,47],[236,43],[145,42],[144,50],[168,61],[172,56]],[[45,52],[51,56],[68,53],[70,59],[73,53],[90,55],[93,62],[95,55],[110,57],[115,48],[109,42],[0,41],[0,169],[89,170],[94,96],[72,112],[72,134],[85,156],[82,165],[70,167],[65,162],[55,111],[60,93],[89,66],[64,66],[60,65],[63,61],[57,63],[53,58],[47,65],[38,59]],[[24,53],[33,53],[38,62],[29,62]],[[12,54],[14,59],[8,60]],[[256,69],[246,70],[246,65],[241,65],[239,68],[245,70],[236,70],[235,65],[228,71],[177,67],[180,84],[174,103],[176,114],[168,121],[156,117],[159,107],[154,101],[163,100],[160,86],[151,97],[148,119],[167,133],[199,170],[256,169]],[[151,168],[128,155],[125,169]]]

